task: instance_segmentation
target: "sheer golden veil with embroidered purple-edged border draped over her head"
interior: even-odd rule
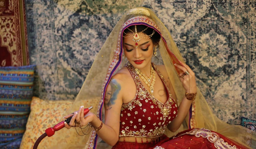
[[[155,29],[161,34],[162,38],[159,42],[158,59],[153,60],[156,64],[164,64],[168,72],[170,81],[174,87],[175,94],[178,99],[178,104],[184,97],[185,90],[182,87],[174,63],[178,60],[184,62],[175,42],[173,41],[168,29],[164,26],[161,20],[155,13],[144,7],[138,7],[129,10],[118,21],[113,28],[108,39],[104,43],[100,52],[96,56],[91,69],[84,81],[79,94],[76,97],[72,107],[65,113],[69,114],[79,109],[81,105],[85,108],[93,106],[91,110],[100,120],[104,122],[104,95],[106,86],[108,85],[111,76],[113,76],[120,68],[123,67],[126,60],[122,60],[122,31],[131,26],[144,24]],[[61,120],[61,119],[60,119]],[[250,146],[251,142],[255,142],[256,133],[239,125],[229,125],[215,115],[212,114],[205,98],[197,89],[196,100],[190,107],[189,114],[182,126],[176,132],[170,132],[166,129],[165,134],[169,137],[176,133],[189,128],[206,128],[225,135],[234,141],[237,141],[245,146]],[[42,142],[47,148],[56,148],[63,146],[67,147],[86,147],[86,148],[104,148],[108,147],[95,133],[91,131],[89,135],[79,136],[75,129],[65,129],[62,132],[56,132],[52,138],[46,138]],[[83,130],[83,131],[86,131]],[[90,130],[89,130],[90,131]],[[88,132],[89,132],[88,131]],[[81,131],[78,133],[82,134]],[[49,143],[50,142],[50,143]],[[40,146],[40,145],[39,145]],[[101,146],[101,147],[100,147]]]

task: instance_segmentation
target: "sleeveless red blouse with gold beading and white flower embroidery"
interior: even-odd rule
[[[165,103],[148,93],[130,63],[125,66],[129,69],[137,90],[133,100],[122,105],[119,136],[154,138],[163,135],[165,127],[177,116],[178,110],[163,76],[152,63],[168,93],[168,100]]]

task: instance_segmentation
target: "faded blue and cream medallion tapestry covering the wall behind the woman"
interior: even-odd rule
[[[171,32],[214,113],[230,124],[256,118],[256,2],[249,0],[26,0],[35,95],[74,99],[127,10],[154,10]],[[103,72],[105,73],[105,72]]]

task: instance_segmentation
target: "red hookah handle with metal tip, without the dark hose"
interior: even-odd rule
[[[89,107],[89,108],[84,109],[83,114],[86,115],[92,108],[93,108],[93,107],[91,106],[91,107]],[[71,118],[72,118],[72,116],[69,117],[69,118],[67,118],[67,119],[65,120],[65,122],[69,123],[70,120],[71,120]],[[47,136],[50,137],[50,136],[53,136],[53,135],[54,135],[55,131],[58,131],[58,130],[64,128],[64,127],[65,127],[64,121],[61,121],[61,122],[59,122],[58,124],[56,124],[53,128],[52,128],[52,127],[47,128],[47,129],[45,130],[45,132],[46,132]]]

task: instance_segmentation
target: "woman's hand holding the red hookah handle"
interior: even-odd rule
[[[89,122],[92,122],[94,117],[96,117],[95,114],[93,114],[91,111],[89,111],[84,116],[83,111],[84,111],[84,107],[81,106],[78,111],[75,111],[74,113],[71,113],[71,114],[63,117],[65,119],[67,119],[72,116],[69,124],[64,122],[65,127],[67,129],[70,129],[70,128],[72,128],[72,126],[75,126],[75,125],[76,125],[76,127],[78,127],[78,126],[83,127],[83,126],[87,125]],[[75,123],[75,121],[76,121],[76,123]]]

